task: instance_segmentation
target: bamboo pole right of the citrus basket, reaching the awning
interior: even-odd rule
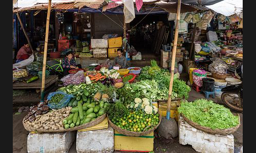
[[[169,95],[168,95],[167,112],[166,112],[166,119],[168,119],[168,120],[170,119],[170,102],[172,101],[172,92],[173,92],[174,66],[175,66],[176,49],[177,49],[177,41],[178,41],[178,33],[179,33],[179,23],[180,23],[180,7],[181,7],[181,0],[178,0],[177,19],[176,19],[175,36],[174,36],[174,48],[173,48],[173,57],[172,57],[172,67],[170,69]]]

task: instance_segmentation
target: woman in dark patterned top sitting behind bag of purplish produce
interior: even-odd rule
[[[70,69],[82,68],[80,64],[76,65],[76,61],[73,58],[72,52],[68,52],[66,54],[66,57],[62,61],[62,67],[64,70],[64,75],[68,75]]]

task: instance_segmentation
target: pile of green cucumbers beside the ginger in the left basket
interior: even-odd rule
[[[106,108],[108,104],[109,103],[104,101],[91,100],[87,89],[83,89],[82,94],[75,96],[69,103],[72,109],[71,114],[63,120],[65,129],[95,120],[105,113],[104,108]]]

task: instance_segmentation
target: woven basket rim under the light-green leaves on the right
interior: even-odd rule
[[[229,134],[232,134],[232,133],[234,133],[238,130],[238,127],[240,126],[240,116],[239,116],[239,114],[237,114],[237,115],[238,115],[238,118],[239,118],[239,124],[237,126],[230,127],[228,129],[223,129],[223,130],[222,129],[212,130],[209,127],[201,126],[198,123],[195,123],[195,122],[189,120],[188,118],[186,118],[181,113],[181,116],[184,118],[184,120],[186,122],[188,122],[191,126],[195,127],[196,129],[199,129],[201,131],[204,131],[204,132],[207,132],[207,133],[210,133],[210,134],[220,134],[220,135],[229,135]]]

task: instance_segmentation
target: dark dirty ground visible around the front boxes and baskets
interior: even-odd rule
[[[181,79],[183,79],[184,81],[187,80],[186,78],[187,78],[186,74],[181,75]],[[188,101],[193,101],[198,98],[204,98],[204,95],[196,92],[194,89],[191,89],[189,93]],[[218,104],[222,104],[222,101],[219,97],[215,97],[214,99],[210,97],[209,99],[215,101]],[[14,108],[14,110],[17,110],[17,109]],[[22,124],[22,120],[26,114],[27,112],[19,115],[13,115],[13,152],[15,153],[27,152],[27,136],[29,132],[24,129],[24,126]],[[241,147],[243,145],[243,113],[240,113],[240,121],[241,121],[241,125],[239,129],[237,130],[237,132],[233,133],[235,147]],[[174,152],[176,153],[197,152],[190,145],[179,144],[178,137],[175,138],[174,142],[172,143],[164,139],[155,138],[154,152],[164,152],[164,150],[165,152],[173,152],[173,153]],[[76,146],[75,146],[75,143],[73,143],[72,147],[69,150],[69,153],[75,153],[75,152],[76,152]],[[120,152],[120,151],[114,151],[114,152]]]

